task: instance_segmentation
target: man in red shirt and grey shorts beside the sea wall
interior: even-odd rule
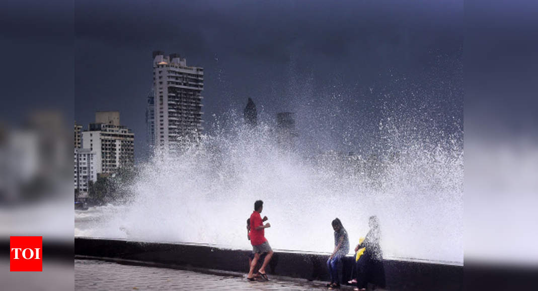
[[[267,239],[265,238],[265,228],[271,227],[270,223],[265,223],[264,221],[267,220],[267,217],[264,217],[261,219],[261,211],[264,208],[264,202],[261,200],[258,200],[254,203],[254,211],[250,215],[250,243],[252,244],[252,252],[254,253],[254,258],[252,259],[252,263],[250,264],[250,271],[249,275],[247,275],[246,279],[249,281],[254,281],[253,272],[254,267],[256,267],[256,264],[258,263],[258,259],[260,258],[260,255],[262,253],[267,253],[265,256],[265,260],[263,265],[261,265],[260,270],[258,270],[258,273],[263,277],[265,280],[268,280],[267,274],[265,274],[265,267],[271,260],[271,257],[273,256],[273,250],[271,249],[271,246],[269,245],[269,242],[267,242]]]

